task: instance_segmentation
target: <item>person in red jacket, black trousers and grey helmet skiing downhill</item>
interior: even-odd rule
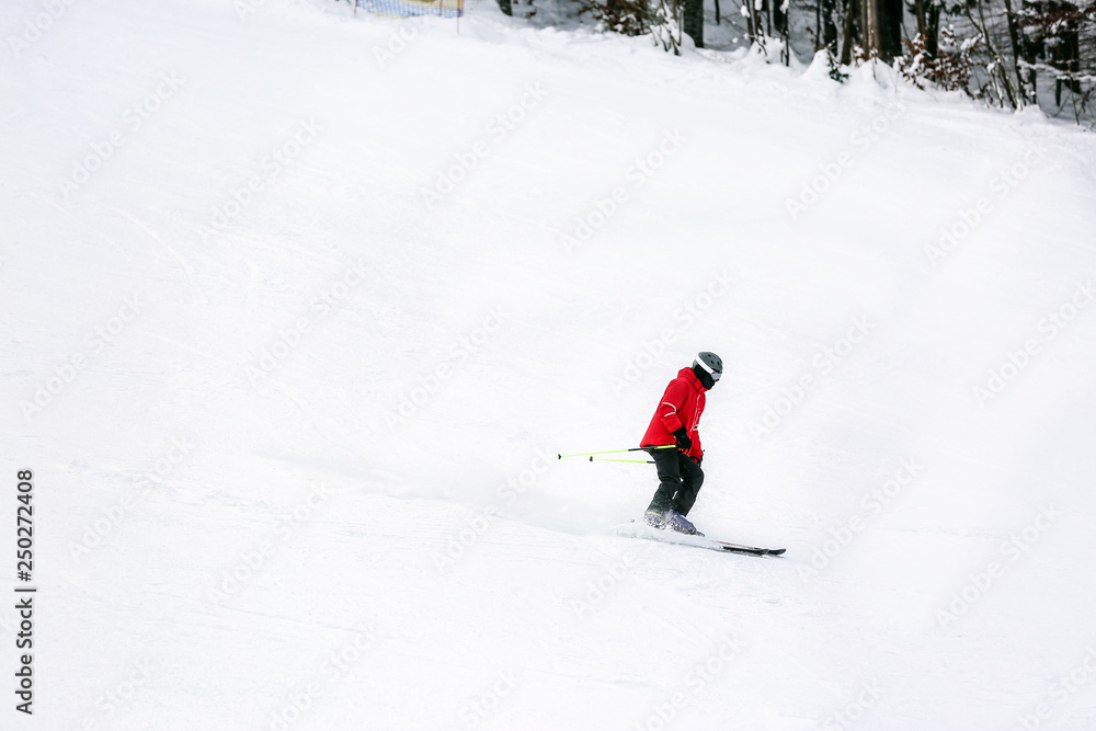
[[[704,449],[697,426],[704,413],[705,393],[723,373],[715,353],[697,353],[692,367],[682,368],[670,381],[640,447],[675,445],[676,449],[648,449],[659,473],[659,489],[643,514],[648,525],[703,536],[685,517],[704,484],[700,462]]]

